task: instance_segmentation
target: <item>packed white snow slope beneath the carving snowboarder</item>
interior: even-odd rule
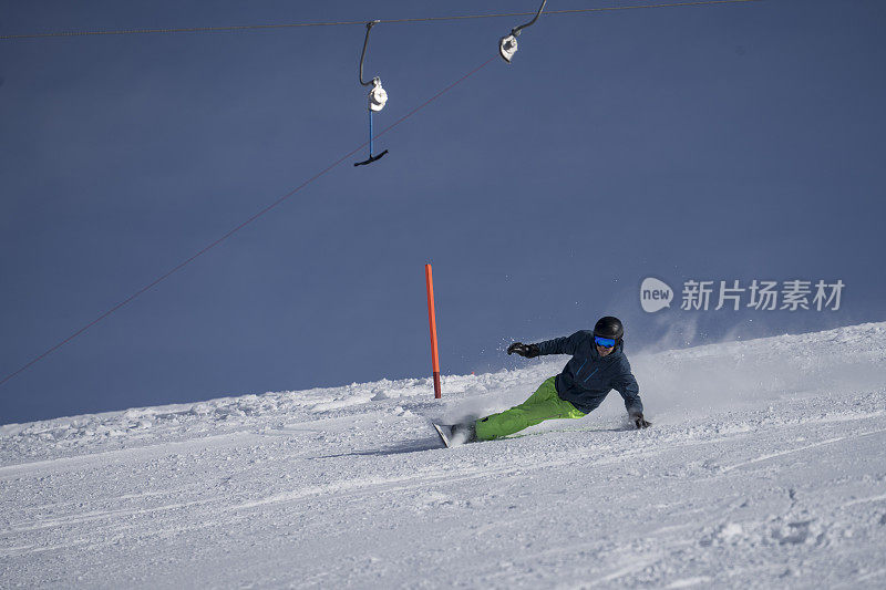
[[[886,587],[886,323],[626,351],[646,431],[441,448],[565,356],[2,426],[0,586]]]

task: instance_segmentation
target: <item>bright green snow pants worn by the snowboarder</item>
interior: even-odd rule
[[[506,410],[501,414],[493,414],[476,422],[476,433],[480,441],[492,441],[514,434],[523,428],[528,428],[540,424],[546,420],[555,418],[580,418],[585,415],[578,411],[570,402],[560,400],[554,381],[557,377],[546,380],[529,396],[528,400],[519,405]]]

